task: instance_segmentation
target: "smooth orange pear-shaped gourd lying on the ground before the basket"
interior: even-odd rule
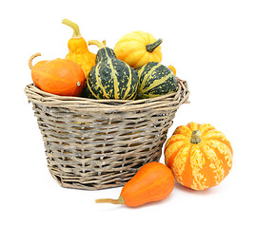
[[[163,163],[152,161],[143,165],[123,187],[118,199],[96,199],[137,207],[148,202],[166,199],[174,188],[171,170]]]

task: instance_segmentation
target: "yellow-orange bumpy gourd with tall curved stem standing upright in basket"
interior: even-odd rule
[[[81,66],[87,78],[90,68],[95,65],[96,55],[89,51],[87,42],[82,37],[80,29],[75,23],[68,19],[64,19],[62,23],[73,28],[73,35],[72,38],[69,39],[68,43],[69,53],[67,54],[66,59],[69,59]]]

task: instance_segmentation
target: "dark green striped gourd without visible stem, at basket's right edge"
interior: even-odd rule
[[[173,72],[164,65],[149,62],[138,69],[138,98],[154,98],[177,91],[178,81]]]

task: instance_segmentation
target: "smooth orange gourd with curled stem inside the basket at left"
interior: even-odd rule
[[[36,53],[29,60],[34,85],[45,92],[60,96],[79,96],[85,83],[81,66],[67,59],[40,61],[32,66],[33,58],[40,55]]]

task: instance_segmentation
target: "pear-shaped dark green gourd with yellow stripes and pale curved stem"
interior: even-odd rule
[[[92,66],[86,84],[89,98],[133,100],[137,95],[139,78],[136,70],[122,60],[118,60],[113,49],[98,41],[89,45],[100,47],[96,55],[96,65]]]

